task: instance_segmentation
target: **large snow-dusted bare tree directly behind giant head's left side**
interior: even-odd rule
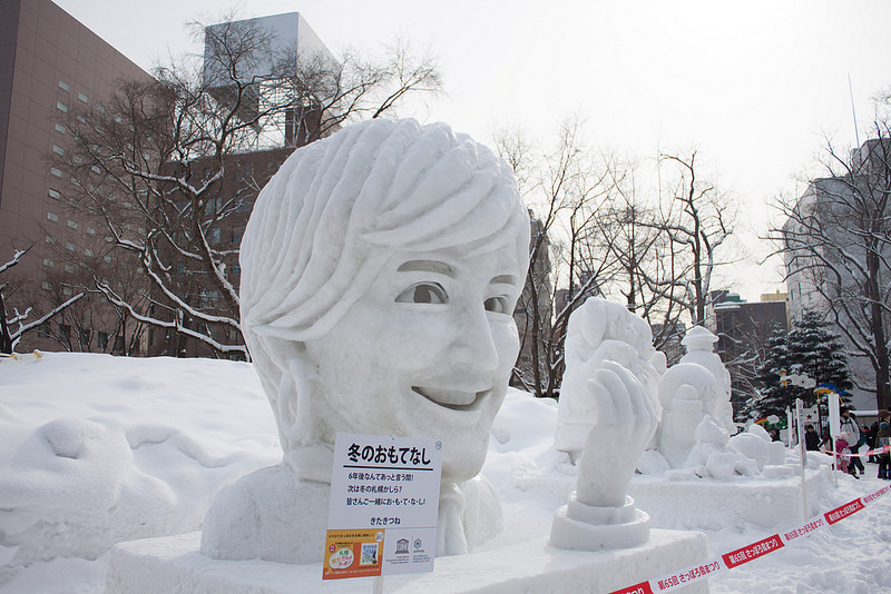
[[[238,244],[260,187],[293,147],[386,115],[413,93],[438,92],[440,77],[431,58],[404,44],[385,60],[347,53],[336,61],[276,49],[257,20],[196,31],[204,56],[70,109],[63,123],[72,143],[55,158],[72,177],[80,215],[148,286],[128,290],[91,271],[94,288],[123,316],[167,330],[167,354],[183,354],[192,339],[246,357]]]

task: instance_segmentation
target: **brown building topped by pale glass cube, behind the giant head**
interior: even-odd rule
[[[245,51],[244,48],[248,50]],[[283,66],[284,65],[284,66]],[[205,28],[205,48],[202,78],[205,92],[215,102],[219,119],[231,119],[242,132],[226,137],[232,148],[221,155],[196,152],[179,155],[169,168],[185,171],[193,179],[212,179],[202,189],[200,201],[225,204],[237,200],[236,208],[205,212],[216,220],[206,229],[207,241],[218,255],[207,257],[225,270],[226,281],[235,289],[241,281],[238,245],[247,219],[253,210],[258,189],[264,187],[273,174],[291,155],[294,148],[327,136],[339,129],[332,125],[333,113],[325,110],[316,97],[317,81],[304,83],[303,79],[335,72],[337,62],[333,55],[296,12],[223,22]],[[313,87],[315,85],[315,87]],[[214,132],[210,132],[214,135]],[[216,132],[222,140],[223,132]],[[196,175],[197,174],[197,175]],[[192,184],[189,189],[172,187],[177,199],[188,202],[203,184]],[[193,209],[194,210],[194,209]],[[217,217],[218,215],[218,217]],[[187,217],[187,222],[195,220]],[[192,239],[174,238],[159,251],[165,263],[177,263],[183,267],[168,284],[187,303],[188,309],[206,314],[210,318],[237,319],[237,304],[225,298],[216,275],[207,274],[206,265],[194,265],[185,269],[179,260],[183,251],[200,250]],[[227,255],[223,255],[227,254]],[[157,293],[157,291],[156,291]],[[232,324],[202,319],[184,311],[184,307],[172,304],[165,296],[155,299],[153,317],[165,323],[178,319],[176,327],[149,329],[148,348],[151,355],[219,356],[218,348],[210,348],[207,340],[198,339],[195,330],[218,345],[243,347],[243,340]],[[167,305],[168,307],[163,307]],[[231,350],[227,356],[239,358],[242,352]]]

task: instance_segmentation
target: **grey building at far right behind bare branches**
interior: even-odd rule
[[[877,384],[870,359],[882,358],[874,345],[887,345],[891,336],[891,141],[865,141],[845,168],[844,175],[812,180],[783,226],[789,309],[793,320],[805,309],[825,313],[830,320],[830,311],[838,313],[834,331],[848,347],[858,386],[852,405],[875,410],[888,406],[870,389]],[[884,339],[877,340],[877,333]]]

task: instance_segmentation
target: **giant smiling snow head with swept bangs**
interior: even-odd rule
[[[287,453],[438,437],[476,475],[519,341],[529,220],[509,166],[442,123],[372,120],[295,151],[242,242],[242,326]]]

